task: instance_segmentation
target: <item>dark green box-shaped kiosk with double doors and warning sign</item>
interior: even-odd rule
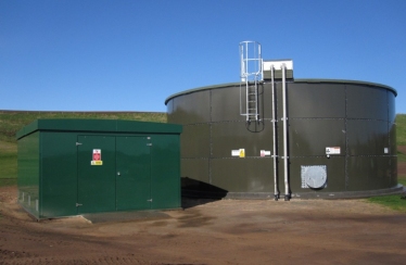
[[[37,219],[180,207],[175,124],[37,119],[18,142],[18,203]]]

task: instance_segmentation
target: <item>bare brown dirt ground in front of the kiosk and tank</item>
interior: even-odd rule
[[[166,217],[34,222],[0,189],[0,264],[405,264],[406,214],[363,200],[186,201]]]

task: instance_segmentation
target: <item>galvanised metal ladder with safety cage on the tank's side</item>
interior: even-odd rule
[[[259,122],[258,83],[264,79],[261,43],[257,41],[240,42],[240,115],[246,122]],[[245,104],[243,99],[245,98]]]

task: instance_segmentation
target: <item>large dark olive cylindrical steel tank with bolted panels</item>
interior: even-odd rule
[[[253,122],[240,115],[240,83],[166,99],[168,122],[183,125],[183,194],[274,198],[275,188],[281,197],[286,193],[282,87],[280,80],[275,83],[275,154],[271,83],[258,85],[259,121]],[[286,90],[291,197],[355,198],[402,190],[396,172],[396,90],[331,79],[292,79]]]

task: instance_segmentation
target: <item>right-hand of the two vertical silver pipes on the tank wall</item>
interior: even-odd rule
[[[282,104],[283,104],[283,174],[284,174],[284,200],[290,200],[288,176],[288,114],[287,114],[287,65],[282,64]]]

